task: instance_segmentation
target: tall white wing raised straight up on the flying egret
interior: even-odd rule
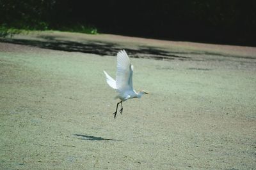
[[[116,90],[122,92],[133,90],[132,87],[133,66],[125,50],[117,53]]]

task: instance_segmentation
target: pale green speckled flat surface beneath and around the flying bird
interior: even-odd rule
[[[256,167],[253,47],[65,32],[0,41],[0,169]],[[134,89],[150,92],[116,119],[109,48],[132,55]]]

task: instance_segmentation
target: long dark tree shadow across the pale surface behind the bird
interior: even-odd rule
[[[36,46],[51,50],[61,50],[66,52],[82,52],[93,53],[97,55],[116,55],[116,53],[124,48],[116,43],[106,41],[69,41],[63,40],[60,36],[38,36],[38,39],[18,39],[18,38],[1,38],[0,42],[13,43],[18,45]],[[129,57],[146,58],[157,60],[173,60],[173,59],[190,59],[179,54],[173,54],[167,50],[154,48],[152,46],[138,46],[138,49],[125,48]]]

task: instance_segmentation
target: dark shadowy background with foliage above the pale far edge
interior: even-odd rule
[[[0,24],[28,29],[74,25],[98,32],[230,45],[256,45],[256,1],[0,0]]]

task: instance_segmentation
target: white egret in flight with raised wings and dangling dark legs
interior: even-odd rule
[[[116,118],[116,112],[118,109],[118,104],[121,104],[122,108],[120,109],[120,113],[123,113],[123,105],[122,101],[126,101],[132,98],[140,98],[143,94],[148,94],[144,90],[140,92],[136,92],[132,87],[132,73],[133,73],[133,66],[129,60],[129,57],[125,50],[121,50],[117,53],[117,70],[116,70],[116,80],[111,78],[106,71],[104,71],[106,75],[106,81],[110,87],[118,92],[118,96],[116,99],[119,98],[120,102],[116,104],[116,111],[113,113],[114,118]]]

